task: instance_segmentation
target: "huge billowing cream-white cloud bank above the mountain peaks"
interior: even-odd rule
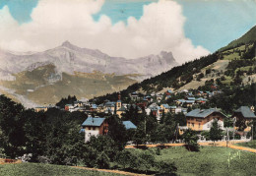
[[[185,18],[181,6],[160,0],[144,6],[140,20],[112,26],[107,16],[95,22],[103,0],[40,0],[32,11],[32,22],[19,25],[5,6],[0,10],[0,47],[16,51],[45,50],[64,40],[111,56],[138,58],[171,51],[180,63],[207,55],[184,35]]]

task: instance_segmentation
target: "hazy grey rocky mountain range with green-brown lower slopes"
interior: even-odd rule
[[[126,59],[69,41],[43,52],[0,50],[0,92],[37,104],[55,103],[68,94],[91,98],[127,88],[177,65],[171,52]]]

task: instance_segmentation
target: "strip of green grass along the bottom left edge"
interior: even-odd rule
[[[71,168],[64,165],[21,163],[0,165],[0,176],[118,176],[119,174]]]

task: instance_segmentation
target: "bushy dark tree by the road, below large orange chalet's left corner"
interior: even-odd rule
[[[199,150],[199,145],[197,144],[197,141],[199,140],[199,137],[196,134],[196,131],[192,129],[188,129],[184,132],[182,135],[182,139],[184,140],[185,144],[188,147],[188,150]]]

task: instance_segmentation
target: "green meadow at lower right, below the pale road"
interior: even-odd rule
[[[235,156],[236,149],[226,147],[201,147],[200,151],[192,152],[184,147],[170,147],[160,150],[149,148],[157,160],[170,160],[177,167],[177,175],[256,175],[256,154],[241,151],[240,159]],[[141,152],[141,149],[131,149]],[[228,167],[227,158],[230,153],[232,159]]]

